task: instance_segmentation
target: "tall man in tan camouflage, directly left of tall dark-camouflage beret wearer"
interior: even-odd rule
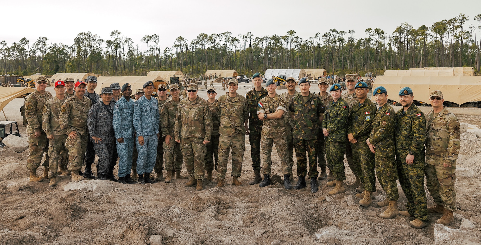
[[[236,78],[228,81],[228,93],[217,100],[220,108],[219,125],[219,163],[217,165],[217,186],[224,186],[227,172],[227,161],[232,149],[232,184],[242,186],[239,182],[242,170],[242,159],[245,149],[245,134],[249,134],[247,120],[249,107],[244,96],[237,93],[239,88]]]

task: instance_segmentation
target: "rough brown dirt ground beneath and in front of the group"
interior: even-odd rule
[[[241,94],[249,87],[240,86]],[[216,87],[220,95],[222,87],[218,84]],[[53,93],[52,88],[48,90]],[[199,93],[206,94],[205,90]],[[20,126],[22,117],[18,111],[22,103],[23,99],[15,99],[5,108],[8,119],[18,121]],[[425,113],[429,110],[420,108]],[[468,132],[461,135],[457,167],[474,171],[474,176],[457,175],[459,210],[449,228],[459,229],[462,218],[471,220],[475,228],[467,233],[466,243],[477,244],[481,242],[481,138],[476,137],[475,131],[481,129],[481,109],[451,110],[461,123],[469,124]],[[25,137],[25,127],[20,127],[20,131]],[[441,214],[430,214],[430,224],[416,230],[407,225],[409,219],[405,217],[377,217],[386,207],[379,208],[375,201],[367,208],[359,206],[354,189],[328,196],[332,188],[326,187],[326,181],[318,181],[317,193],[311,193],[309,188],[285,190],[280,184],[265,188],[251,186],[248,184],[253,178],[250,154],[246,136],[240,177],[244,186],[233,186],[228,176],[224,188],[215,187],[215,180],[204,181],[204,191],[196,192],[195,187],[183,185],[186,180],[145,185],[97,180],[74,184],[69,183],[69,177],[59,177],[59,184],[49,187],[48,181],[28,181],[28,151],[17,154],[3,149],[0,244],[144,245],[151,243],[149,237],[156,234],[170,245],[434,244],[434,223]],[[281,175],[275,150],[272,156],[272,172]],[[349,183],[354,181],[354,175],[344,162]],[[42,170],[40,167],[39,172]],[[182,174],[186,175],[185,168]],[[294,175],[295,184],[297,175]],[[376,187],[373,193],[376,201],[383,200],[385,192],[379,182]],[[399,185],[398,188],[401,195],[398,205],[405,210],[406,199]],[[432,204],[428,195],[428,205]]]

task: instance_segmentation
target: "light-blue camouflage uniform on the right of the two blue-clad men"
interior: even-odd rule
[[[137,173],[152,173],[157,157],[157,134],[159,133],[159,106],[154,97],[148,100],[145,95],[134,103],[134,128],[137,131],[136,145]],[[144,145],[139,144],[139,136],[143,136]]]

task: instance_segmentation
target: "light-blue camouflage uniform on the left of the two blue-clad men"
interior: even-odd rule
[[[115,139],[123,138],[124,142],[117,142],[119,155],[118,176],[125,177],[132,168],[132,153],[134,151],[134,100],[120,98],[114,105],[113,126]]]

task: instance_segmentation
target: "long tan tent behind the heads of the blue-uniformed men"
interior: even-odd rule
[[[148,82],[152,81],[155,85],[155,91],[157,90],[157,86],[160,83],[169,84],[168,80],[159,77],[159,76],[152,76],[152,77],[97,77],[97,88],[95,88],[95,92],[100,94],[102,88],[110,87],[110,85],[114,82],[118,82],[120,87],[126,83],[130,83],[132,87],[132,92],[135,92],[136,89],[141,89],[143,85]]]

